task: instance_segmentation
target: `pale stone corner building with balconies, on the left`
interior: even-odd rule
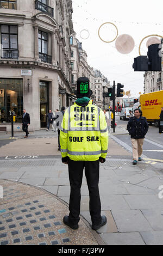
[[[23,108],[29,130],[46,127],[46,113],[70,106],[71,0],[0,1],[0,127],[21,126]],[[64,93],[64,94],[63,94]]]

